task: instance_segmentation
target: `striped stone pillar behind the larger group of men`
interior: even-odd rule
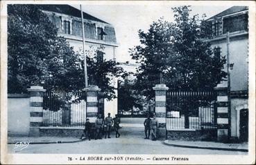
[[[98,116],[98,94],[101,89],[98,86],[88,86],[85,91],[87,93],[86,118],[89,122],[95,123]]]

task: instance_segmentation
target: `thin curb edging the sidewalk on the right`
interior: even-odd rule
[[[241,152],[248,152],[248,149],[239,149],[239,148],[219,148],[219,147],[206,147],[206,146],[186,146],[180,144],[170,144],[166,141],[163,142],[164,145],[167,146],[176,146],[182,148],[198,148],[198,149],[209,149],[209,150],[221,150],[221,151],[241,151]]]

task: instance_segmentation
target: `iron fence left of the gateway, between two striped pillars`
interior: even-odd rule
[[[43,126],[84,126],[85,91],[44,93]]]

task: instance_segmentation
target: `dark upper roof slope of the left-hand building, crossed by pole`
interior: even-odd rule
[[[51,11],[51,12],[58,12],[58,13],[62,13],[62,14],[71,15],[71,16],[74,16],[74,17],[81,17],[80,10],[78,10],[77,8],[74,8],[72,6],[69,6],[69,5],[38,5],[38,6],[42,10]],[[83,18],[88,19],[88,20],[92,20],[92,21],[99,21],[99,22],[102,22],[102,23],[107,23],[105,21],[102,21],[101,19],[93,17],[90,14],[87,14],[86,12],[83,12]],[[108,23],[108,24],[110,24],[110,23]]]

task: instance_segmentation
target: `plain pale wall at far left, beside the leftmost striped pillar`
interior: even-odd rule
[[[28,135],[30,124],[30,97],[8,95],[8,135]]]

